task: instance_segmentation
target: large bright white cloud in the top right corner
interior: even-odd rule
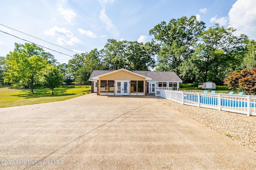
[[[256,39],[256,3],[255,0],[237,0],[228,13],[229,26],[236,33],[246,34],[250,39]]]

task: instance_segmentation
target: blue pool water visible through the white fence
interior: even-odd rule
[[[193,102],[198,102],[198,97],[196,95],[184,96],[185,100],[190,100]],[[202,104],[211,104],[218,105],[218,98],[213,98],[209,96],[200,96],[200,103]],[[247,102],[228,100],[228,99],[220,99],[221,106],[230,106],[230,107],[247,107]],[[251,104],[251,107],[254,106],[254,103]]]

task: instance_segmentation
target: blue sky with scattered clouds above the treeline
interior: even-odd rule
[[[0,31],[73,56],[102,49],[107,39],[151,41],[149,30],[161,21],[197,16],[207,27],[216,22],[256,39],[255,0],[8,0],[0,6]],[[66,49],[40,41],[22,31]],[[26,41],[0,32],[0,56]],[[72,59],[44,49],[60,63]]]

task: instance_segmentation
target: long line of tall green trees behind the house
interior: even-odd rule
[[[230,73],[256,67],[256,41],[234,33],[232,27],[216,24],[206,29],[205,23],[195,16],[182,17],[169,23],[162,21],[152,28],[151,42],[108,39],[103,49],[74,55],[67,64],[59,64],[53,55],[36,45],[15,43],[13,52],[0,57],[0,83],[33,87],[45,81],[42,72],[52,66],[58,68],[67,84],[82,85],[88,83],[92,70],[116,70],[129,65],[130,70],[174,71],[185,83],[223,84]],[[22,68],[19,60],[31,67]],[[33,69],[28,75],[24,73]]]

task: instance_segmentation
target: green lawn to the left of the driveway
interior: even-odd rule
[[[17,89],[11,86],[0,86],[0,107],[22,106],[46,102],[68,100],[90,93],[90,86],[75,88],[74,86],[54,89],[54,95],[50,89]]]

